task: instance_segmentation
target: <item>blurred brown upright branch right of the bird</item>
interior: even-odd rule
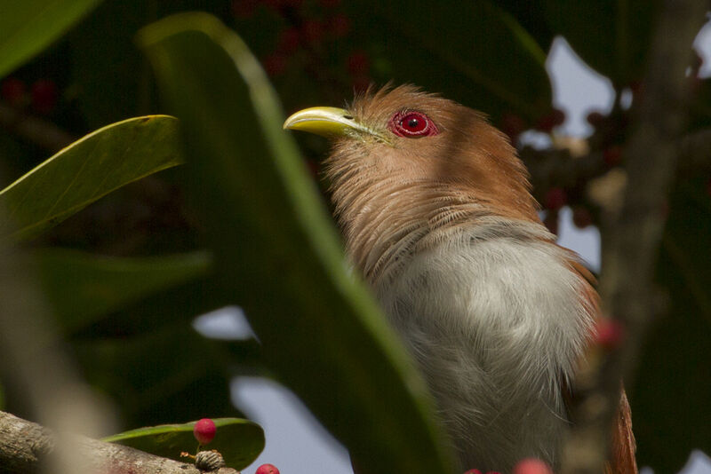
[[[691,93],[685,71],[707,7],[707,0],[667,0],[659,17],[645,93],[624,148],[624,199],[620,209],[608,209],[603,220],[603,311],[627,329],[627,339],[618,351],[579,375],[576,427],[563,452],[563,474],[603,472],[619,381],[635,367],[645,329],[655,315],[652,275]]]

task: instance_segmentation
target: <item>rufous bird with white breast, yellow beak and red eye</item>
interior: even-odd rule
[[[310,107],[284,129],[330,138],[324,175],[348,258],[424,376],[465,469],[554,470],[600,306],[539,218],[528,172],[485,115],[411,84]],[[636,472],[620,393],[610,474]]]

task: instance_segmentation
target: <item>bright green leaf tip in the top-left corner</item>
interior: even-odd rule
[[[3,0],[0,77],[44,50],[100,0]]]

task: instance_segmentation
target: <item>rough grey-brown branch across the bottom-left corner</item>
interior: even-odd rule
[[[201,474],[193,464],[144,453],[128,446],[105,443],[92,438],[72,437],[76,453],[74,472],[100,474]],[[0,412],[0,474],[36,472],[56,451],[56,438],[46,428],[17,416]],[[216,474],[236,474],[231,468],[213,470]]]

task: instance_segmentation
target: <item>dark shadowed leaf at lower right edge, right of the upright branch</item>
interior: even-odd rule
[[[683,178],[658,265],[671,312],[647,338],[631,393],[640,465],[678,472],[692,449],[711,453],[711,197],[706,179]]]

